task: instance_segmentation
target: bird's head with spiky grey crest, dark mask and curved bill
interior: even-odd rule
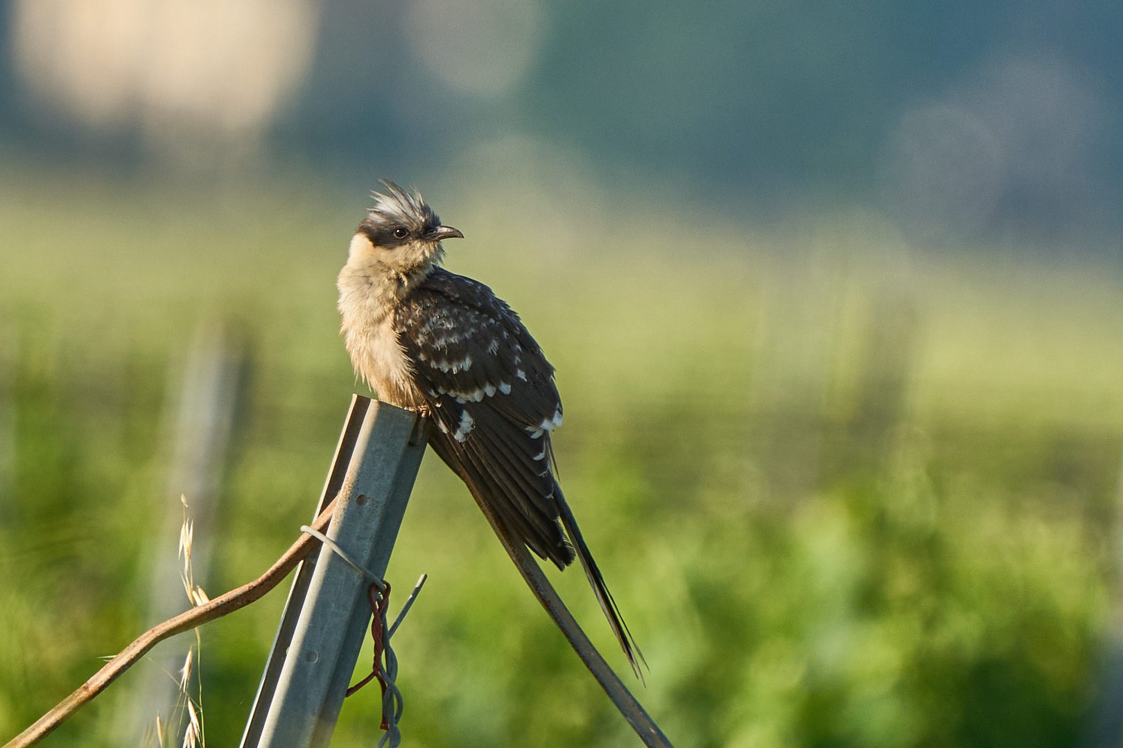
[[[374,206],[358,224],[350,243],[350,265],[374,265],[403,280],[424,275],[445,255],[444,239],[463,238],[426,204],[417,190],[382,179],[385,192],[372,193]]]

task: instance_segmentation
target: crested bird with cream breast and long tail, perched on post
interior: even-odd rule
[[[357,376],[380,400],[431,421],[430,447],[496,532],[560,570],[579,563],[639,676],[642,653],[556,478],[550,437],[563,417],[554,367],[491,288],[441,267],[441,242],[464,234],[416,188],[381,184],[337,280]]]

